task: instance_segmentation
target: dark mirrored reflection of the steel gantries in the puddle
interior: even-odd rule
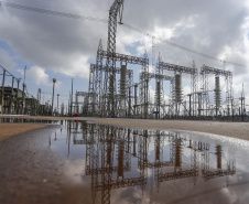
[[[65,125],[67,157],[71,142],[85,147],[85,175],[90,176],[94,202],[98,192],[101,203],[110,203],[111,190],[140,186],[143,194],[152,187],[160,192],[167,181],[191,179],[195,185],[199,179],[236,173],[234,157],[220,143],[173,131],[72,121]]]

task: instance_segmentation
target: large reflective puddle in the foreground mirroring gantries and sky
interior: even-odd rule
[[[93,203],[247,203],[249,141],[64,122],[47,144]]]

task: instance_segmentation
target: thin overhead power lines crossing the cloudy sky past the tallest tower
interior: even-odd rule
[[[6,2],[6,1],[0,1],[0,3],[2,3],[4,7],[9,7],[9,8],[12,8],[12,9],[20,9],[20,10],[37,12],[37,13],[43,13],[43,14],[50,14],[50,15],[56,15],[56,17],[63,17],[63,18],[69,18],[69,19],[75,19],[75,20],[87,20],[87,21],[94,21],[94,22],[108,23],[107,19],[85,17],[85,15],[72,14],[72,13],[59,12],[59,11],[52,11],[52,10],[47,10],[47,9],[40,9],[40,8],[34,8],[34,7],[28,7],[28,6],[18,4],[18,3],[10,3],[10,2]],[[154,35],[152,36],[150,33],[148,33],[145,31],[142,31],[141,29],[138,29],[138,28],[136,28],[133,25],[130,25],[128,23],[122,23],[121,25],[124,26],[124,28],[128,28],[128,29],[130,29],[132,31],[136,31],[136,32],[138,32],[140,34],[143,34],[145,36],[155,37],[159,41],[161,41],[162,43],[169,44],[169,45],[177,47],[180,50],[183,50],[183,51],[186,51],[186,52],[190,52],[190,53],[193,53],[193,54],[206,57],[206,58],[210,58],[210,60],[214,60],[214,61],[223,62],[223,63],[226,63],[226,64],[231,64],[231,65],[235,65],[235,66],[247,67],[247,65],[245,65],[245,64],[239,64],[239,63],[235,63],[235,62],[224,61],[224,60],[217,58],[215,56],[212,56],[212,55],[208,55],[208,54],[205,54],[205,53],[202,53],[202,52],[188,49],[186,46],[182,46],[180,44],[170,42],[169,40],[165,40],[165,39],[162,39],[162,37],[156,37]]]

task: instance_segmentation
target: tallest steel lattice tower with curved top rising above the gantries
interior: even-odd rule
[[[118,14],[121,19],[124,0],[115,0],[109,11],[108,42],[107,42],[107,66],[104,83],[104,117],[116,116],[116,32]],[[121,21],[120,21],[121,23]],[[109,72],[110,71],[110,72]]]

